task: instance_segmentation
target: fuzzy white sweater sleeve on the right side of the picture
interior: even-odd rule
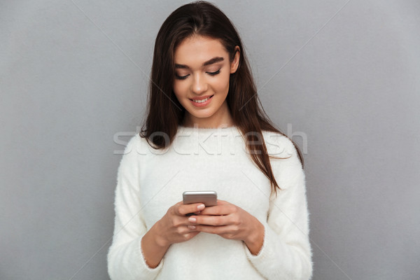
[[[309,211],[305,175],[293,143],[283,145],[287,160],[273,160],[272,169],[279,187],[269,200],[262,248],[252,255],[244,245],[248,260],[267,279],[308,280],[312,276],[312,251],[309,243]],[[279,155],[283,158],[283,153]]]

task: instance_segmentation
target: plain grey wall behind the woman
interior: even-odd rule
[[[306,150],[313,279],[420,279],[420,2],[256,2],[216,1]],[[114,137],[182,3],[1,1],[0,279],[108,279]]]

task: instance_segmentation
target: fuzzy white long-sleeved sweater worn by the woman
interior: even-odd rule
[[[262,133],[282,190],[270,195],[267,177],[253,164],[237,127],[179,127],[165,150],[132,137],[118,168],[115,228],[108,272],[115,280],[310,279],[312,251],[305,176],[292,142]],[[252,255],[243,241],[200,232],[169,246],[158,267],[146,265],[141,238],[182,200],[186,190],[216,190],[218,199],[241,207],[265,227]]]

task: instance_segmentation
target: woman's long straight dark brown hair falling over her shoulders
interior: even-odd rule
[[[227,103],[235,125],[243,136],[247,136],[244,137],[244,141],[253,162],[267,176],[272,192],[276,193],[276,188],[281,188],[274,178],[269,162],[269,157],[276,157],[267,154],[265,141],[258,139],[258,135],[262,135],[262,130],[265,130],[287,136],[274,127],[262,109],[237,30],[221,10],[207,1],[195,1],[177,8],[160,27],[153,52],[147,118],[140,136],[146,138],[149,144],[151,139],[155,146],[153,148],[166,148],[172,144],[186,113],[172,89],[175,75],[174,52],[184,39],[192,35],[220,40],[230,54],[230,62],[235,57],[235,46],[239,46],[239,66],[237,71],[230,75]],[[156,132],[159,134],[156,135]],[[248,137],[248,134],[251,137]],[[302,153],[295,142],[292,143],[303,167]]]

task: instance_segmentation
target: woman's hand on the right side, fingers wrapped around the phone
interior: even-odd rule
[[[245,242],[253,255],[258,254],[264,241],[264,226],[244,209],[224,200],[216,206],[206,207],[200,215],[190,216],[191,230],[220,235],[226,239]]]

